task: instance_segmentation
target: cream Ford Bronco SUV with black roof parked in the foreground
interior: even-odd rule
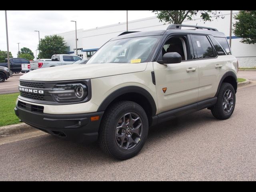
[[[140,152],[150,126],[204,108],[217,119],[230,118],[237,72],[226,35],[214,28],[175,24],[124,32],[85,65],[21,76],[15,113],[49,134],[98,140],[124,160]]]

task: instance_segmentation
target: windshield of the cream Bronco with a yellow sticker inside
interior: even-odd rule
[[[159,38],[146,36],[109,41],[87,63],[148,62]]]

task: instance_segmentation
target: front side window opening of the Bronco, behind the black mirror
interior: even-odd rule
[[[163,48],[162,48],[162,55],[168,52],[177,52],[181,56],[181,60],[188,60],[187,58],[187,52],[188,52],[188,46],[186,43],[186,38],[184,36],[182,37],[171,37],[168,39]]]

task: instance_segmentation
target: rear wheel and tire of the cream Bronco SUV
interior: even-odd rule
[[[236,105],[236,93],[230,83],[222,83],[217,94],[217,102],[211,109],[212,115],[221,120],[230,118]]]

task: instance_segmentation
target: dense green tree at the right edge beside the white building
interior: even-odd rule
[[[236,36],[242,37],[240,42],[247,44],[256,43],[256,11],[242,10],[234,16],[237,20],[233,26]]]

